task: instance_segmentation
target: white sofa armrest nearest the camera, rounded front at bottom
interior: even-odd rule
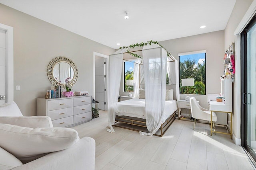
[[[72,147],[52,152],[14,168],[14,170],[94,170],[95,140],[80,139]]]

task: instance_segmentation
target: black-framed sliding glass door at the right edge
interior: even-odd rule
[[[243,46],[243,138],[242,145],[256,158],[256,21],[244,30]]]

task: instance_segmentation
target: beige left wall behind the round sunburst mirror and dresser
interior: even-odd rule
[[[25,116],[36,115],[36,98],[44,97],[51,86],[46,69],[52,59],[64,56],[74,61],[79,74],[72,89],[92,95],[93,51],[105,55],[115,51],[3,4],[0,23],[14,27],[14,101]]]

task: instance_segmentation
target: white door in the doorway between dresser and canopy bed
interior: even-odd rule
[[[106,61],[103,57],[95,56],[95,100],[100,104],[100,110],[105,110],[106,92]]]

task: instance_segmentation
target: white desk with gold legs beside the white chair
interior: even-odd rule
[[[230,133],[224,133],[224,132],[218,132],[216,133],[222,133],[230,135],[230,138],[232,139],[232,105],[226,105],[222,102],[210,102],[210,111],[211,111],[211,135],[212,135],[212,111],[217,111],[220,113],[230,113]]]

